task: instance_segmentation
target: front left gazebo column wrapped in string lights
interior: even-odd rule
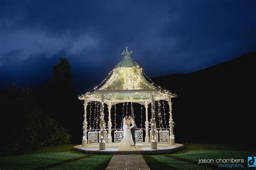
[[[99,142],[99,149],[105,150],[106,143],[105,143],[105,121],[104,121],[104,94],[102,94],[102,101],[100,103],[100,142]]]

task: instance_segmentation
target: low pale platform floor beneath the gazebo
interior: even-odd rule
[[[99,144],[90,144],[88,146],[77,145],[73,149],[93,154],[159,154],[159,153],[172,153],[184,149],[182,144],[157,144],[157,149],[151,149],[151,144],[146,142],[136,142],[136,147],[130,148],[118,147],[119,143],[106,143],[105,150],[99,150]]]

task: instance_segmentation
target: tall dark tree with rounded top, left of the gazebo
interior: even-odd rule
[[[67,59],[60,58],[53,66],[49,84],[37,87],[37,93],[44,112],[68,129],[72,142],[80,142],[83,105],[73,86],[71,65]]]

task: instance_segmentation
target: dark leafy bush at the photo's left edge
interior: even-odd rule
[[[70,142],[70,134],[43,112],[30,87],[1,90],[0,112],[1,155]]]

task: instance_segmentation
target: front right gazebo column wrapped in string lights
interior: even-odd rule
[[[156,117],[154,114],[154,97],[153,93],[151,93],[151,149],[157,149],[157,141],[156,141]]]

